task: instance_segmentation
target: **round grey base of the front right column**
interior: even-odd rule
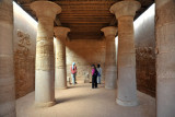
[[[137,106],[138,105],[138,101],[122,102],[118,98],[116,98],[116,103],[121,106]]]

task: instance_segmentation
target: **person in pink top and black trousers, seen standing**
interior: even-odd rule
[[[92,89],[97,87],[97,70],[95,65],[92,65]]]

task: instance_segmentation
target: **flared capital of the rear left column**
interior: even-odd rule
[[[60,38],[66,38],[67,34],[70,32],[70,28],[68,27],[62,27],[62,26],[57,26],[54,27],[54,33],[56,35],[56,37],[60,37]]]

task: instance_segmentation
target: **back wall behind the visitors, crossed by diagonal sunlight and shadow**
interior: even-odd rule
[[[73,39],[67,40],[67,75],[71,78],[70,67],[72,62],[78,67],[78,81],[90,79],[91,65],[100,63],[103,70],[102,79],[104,80],[105,70],[105,39]]]

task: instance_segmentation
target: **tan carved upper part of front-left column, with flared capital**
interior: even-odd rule
[[[35,69],[54,70],[54,20],[61,8],[50,1],[33,2],[31,8],[38,19]]]

